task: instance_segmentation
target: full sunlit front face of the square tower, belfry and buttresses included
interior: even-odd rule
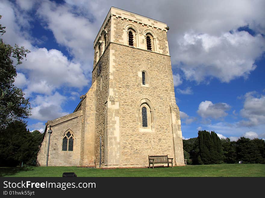
[[[116,14],[111,17],[105,165],[145,166],[148,155],[168,155],[175,165],[184,165],[167,31],[150,27],[151,20],[149,25],[141,24],[118,16],[124,13]],[[133,47],[127,43],[128,27],[138,34]],[[154,36],[153,51],[146,50],[148,32]],[[142,71],[146,74],[145,85]],[[148,119],[153,118],[148,127],[142,127],[140,107],[144,103],[150,108]]]

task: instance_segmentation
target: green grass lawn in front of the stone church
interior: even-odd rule
[[[83,168],[83,167],[8,167],[1,177],[62,177],[74,172],[77,177],[265,177],[265,164],[187,165],[157,168]]]

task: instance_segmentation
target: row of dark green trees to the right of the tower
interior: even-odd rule
[[[214,131],[198,131],[198,137],[183,141],[185,159],[190,164],[265,164],[265,140],[240,137],[237,141],[220,139]],[[187,153],[186,153],[187,152]],[[189,155],[188,155],[189,154]],[[188,162],[188,160],[187,160]]]

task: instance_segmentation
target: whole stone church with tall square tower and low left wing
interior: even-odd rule
[[[94,41],[92,86],[73,113],[46,123],[38,165],[145,167],[148,155],[184,165],[168,29],[111,7]]]

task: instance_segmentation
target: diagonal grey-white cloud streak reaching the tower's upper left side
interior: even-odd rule
[[[76,6],[73,8],[68,4],[59,5],[45,1],[40,5],[37,14],[46,22],[45,27],[52,31],[56,41],[65,46],[76,60],[82,62],[84,71],[91,72],[94,59],[93,42],[100,26],[90,22],[80,10]],[[87,12],[89,13],[89,10]]]

